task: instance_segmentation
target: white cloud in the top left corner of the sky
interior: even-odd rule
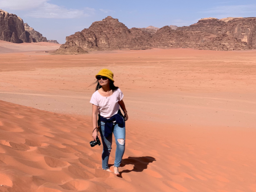
[[[38,8],[47,1],[48,0],[0,0],[0,8],[7,8],[10,10],[29,10]]]

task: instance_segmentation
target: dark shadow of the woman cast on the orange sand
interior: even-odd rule
[[[120,164],[120,167],[124,167],[128,164],[133,164],[133,169],[125,169],[120,172],[119,177],[122,177],[122,173],[129,173],[129,172],[142,172],[144,169],[147,169],[147,165],[152,163],[153,161],[156,161],[154,157],[128,157],[127,159],[122,159],[122,163]]]

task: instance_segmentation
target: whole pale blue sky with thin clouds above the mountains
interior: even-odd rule
[[[18,15],[48,40],[59,43],[108,15],[128,28],[188,26],[201,18],[256,16],[253,0],[0,0],[0,9]]]

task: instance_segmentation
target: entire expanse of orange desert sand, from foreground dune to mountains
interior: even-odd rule
[[[256,51],[36,53],[46,44],[0,49],[0,191],[256,192]],[[89,145],[101,68],[129,114],[120,177]]]

